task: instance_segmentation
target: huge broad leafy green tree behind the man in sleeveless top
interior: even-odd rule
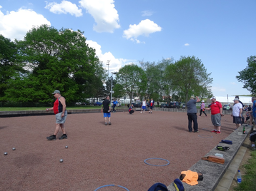
[[[82,31],[42,25],[16,43],[28,73],[10,82],[7,93],[12,100],[47,103],[59,89],[71,103],[88,98],[91,86],[100,85],[96,75],[101,65]]]

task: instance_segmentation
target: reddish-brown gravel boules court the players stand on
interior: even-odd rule
[[[49,141],[54,115],[0,118],[0,190],[91,191],[121,185],[132,191],[148,190],[155,182],[169,185],[235,129],[225,115],[222,133],[211,133],[209,115],[198,117],[200,133],[189,133],[187,113],[164,111],[112,113],[111,122],[105,126],[102,113],[68,115],[68,139]],[[147,165],[147,158],[169,165]],[[124,189],[99,189],[106,190]]]

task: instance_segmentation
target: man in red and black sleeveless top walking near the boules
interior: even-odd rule
[[[59,138],[67,139],[66,130],[64,128],[64,123],[67,119],[67,110],[66,110],[66,99],[61,96],[60,91],[56,90],[54,93],[54,98],[56,98],[54,102],[54,106],[52,108],[46,108],[46,111],[53,110],[56,118],[55,130],[54,134],[47,137],[47,140],[56,140],[56,135],[59,132],[59,128],[61,128],[63,135]]]

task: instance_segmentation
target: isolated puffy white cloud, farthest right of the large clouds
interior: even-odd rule
[[[137,41],[138,36],[149,36],[150,33],[162,31],[162,28],[149,19],[142,20],[138,25],[129,25],[129,29],[124,31],[123,37],[131,41]]]

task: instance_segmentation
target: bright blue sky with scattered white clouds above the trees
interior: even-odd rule
[[[249,95],[236,76],[256,55],[255,7],[255,0],[1,0],[0,33],[14,41],[41,24],[84,31],[109,76],[130,63],[195,56],[211,73],[214,96]]]

